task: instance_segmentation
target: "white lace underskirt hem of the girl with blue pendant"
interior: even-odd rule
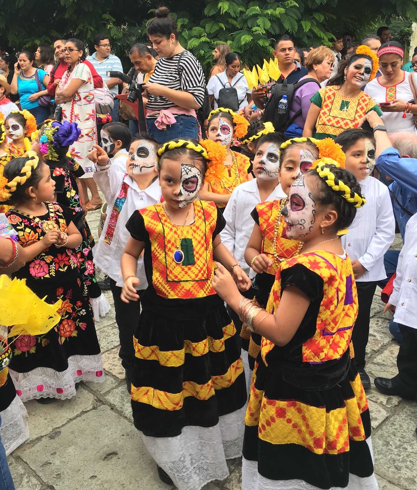
[[[242,455],[246,406],[219,417],[213,427],[187,426],[175,437],[140,433],[149,454],[178,490],[200,490],[229,476],[227,459]]]

